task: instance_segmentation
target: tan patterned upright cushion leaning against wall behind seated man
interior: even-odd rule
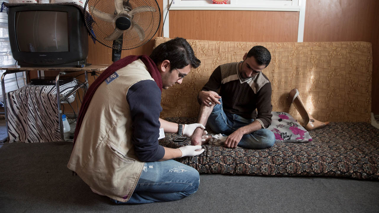
[[[155,47],[169,38],[155,38]],[[368,42],[224,42],[187,39],[201,65],[162,92],[161,117],[197,117],[196,96],[213,70],[241,61],[255,45],[271,52],[263,73],[273,88],[273,111],[290,113],[304,124],[287,102],[297,88],[307,111],[319,121],[370,122],[373,57]]]

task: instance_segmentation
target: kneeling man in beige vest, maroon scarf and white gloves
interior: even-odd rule
[[[162,88],[181,84],[199,65],[183,38],[160,44],[150,57],[132,55],[113,63],[83,100],[67,167],[93,192],[116,203],[170,201],[195,193],[199,172],[170,159],[199,155],[204,149],[162,147],[158,136],[160,127],[189,138],[196,127],[205,128],[159,118]]]

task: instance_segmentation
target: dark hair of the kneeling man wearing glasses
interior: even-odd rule
[[[193,68],[200,66],[200,60],[196,58],[191,45],[186,39],[178,37],[155,47],[150,58],[155,64],[169,60],[171,70],[182,69],[188,64],[191,64]]]

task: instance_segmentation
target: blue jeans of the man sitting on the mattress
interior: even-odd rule
[[[216,104],[213,107],[211,114],[208,117],[208,126],[216,133],[222,135],[230,135],[240,127],[251,124],[254,119],[245,119],[237,114],[224,112],[221,104]],[[275,135],[271,130],[260,129],[250,134],[244,135],[237,146],[246,149],[265,149],[272,147],[275,143]]]

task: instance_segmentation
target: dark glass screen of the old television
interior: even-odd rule
[[[67,12],[17,12],[16,37],[19,51],[22,52],[67,52]]]

